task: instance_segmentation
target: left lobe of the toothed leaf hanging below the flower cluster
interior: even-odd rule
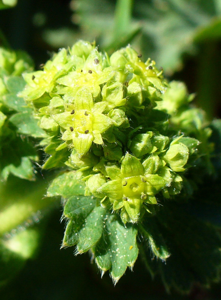
[[[77,245],[76,253],[83,253],[100,240],[106,209],[95,203],[96,199],[90,196],[68,200],[65,214],[71,216],[71,220],[65,229],[62,247]]]

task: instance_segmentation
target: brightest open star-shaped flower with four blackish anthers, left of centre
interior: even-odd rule
[[[78,155],[83,156],[89,151],[92,142],[103,144],[101,134],[112,125],[112,120],[102,113],[106,103],[94,103],[88,88],[80,88],[74,98],[74,103],[67,104],[64,113],[52,117],[66,129],[62,139],[72,140]]]

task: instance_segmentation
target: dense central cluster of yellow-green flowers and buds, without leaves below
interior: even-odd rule
[[[79,170],[85,195],[120,211],[124,223],[154,213],[183,185],[191,190],[191,167],[205,152],[200,135],[179,125],[180,107],[186,110],[193,96],[168,84],[150,58],[143,62],[130,46],[108,57],[78,41],[24,79],[19,96],[47,134],[43,168]]]

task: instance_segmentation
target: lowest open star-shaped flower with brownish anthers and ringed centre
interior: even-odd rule
[[[112,180],[98,189],[110,198],[114,210],[124,207],[132,223],[138,221],[143,202],[156,204],[156,193],[166,186],[162,177],[147,173],[145,167],[138,158],[126,153],[121,169],[117,166],[106,167]]]

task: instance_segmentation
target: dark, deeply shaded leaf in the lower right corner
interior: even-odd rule
[[[209,286],[219,280],[221,237],[214,227],[187,215],[182,205],[168,206],[158,220],[171,252],[167,263],[160,265],[168,289],[173,286],[186,292],[194,281]]]

